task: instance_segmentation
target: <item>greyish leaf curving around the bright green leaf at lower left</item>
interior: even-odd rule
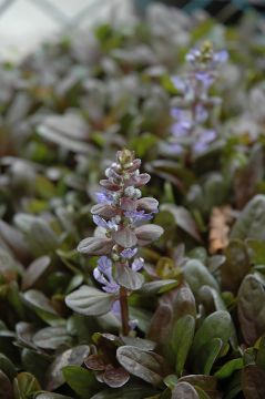
[[[48,390],[59,388],[64,381],[62,369],[67,366],[81,366],[89,356],[90,347],[80,345],[59,355],[48,369]]]

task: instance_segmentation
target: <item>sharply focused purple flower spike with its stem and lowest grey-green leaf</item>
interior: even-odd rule
[[[140,173],[140,165],[141,160],[133,152],[116,153],[115,162],[105,170],[106,178],[100,181],[103,191],[96,193],[98,204],[91,208],[98,226],[94,237],[84,238],[78,246],[82,254],[100,256],[93,277],[105,294],[81,287],[67,297],[69,307],[86,315],[98,316],[112,309],[121,318],[124,336],[133,328],[128,296],[144,283],[140,273],[144,259],[137,253],[163,233],[162,227],[146,224],[159,212],[159,202],[142,197],[140,187],[150,181],[150,175]],[[86,295],[91,303],[83,309]]]

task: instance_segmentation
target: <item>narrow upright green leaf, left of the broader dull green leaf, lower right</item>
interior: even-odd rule
[[[176,374],[181,376],[186,357],[192,346],[195,331],[195,319],[191,315],[182,316],[174,325],[172,334],[172,348],[176,357]]]

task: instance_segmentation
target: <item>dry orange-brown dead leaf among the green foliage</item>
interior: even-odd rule
[[[215,254],[228,245],[228,235],[233,221],[230,205],[214,207],[210,218],[208,252]]]

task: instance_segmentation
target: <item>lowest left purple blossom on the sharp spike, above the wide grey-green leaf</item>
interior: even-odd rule
[[[103,285],[104,291],[114,294],[120,290],[119,284],[112,276],[112,262],[108,256],[101,256],[98,260],[98,266],[93,270],[93,276],[100,284]]]

